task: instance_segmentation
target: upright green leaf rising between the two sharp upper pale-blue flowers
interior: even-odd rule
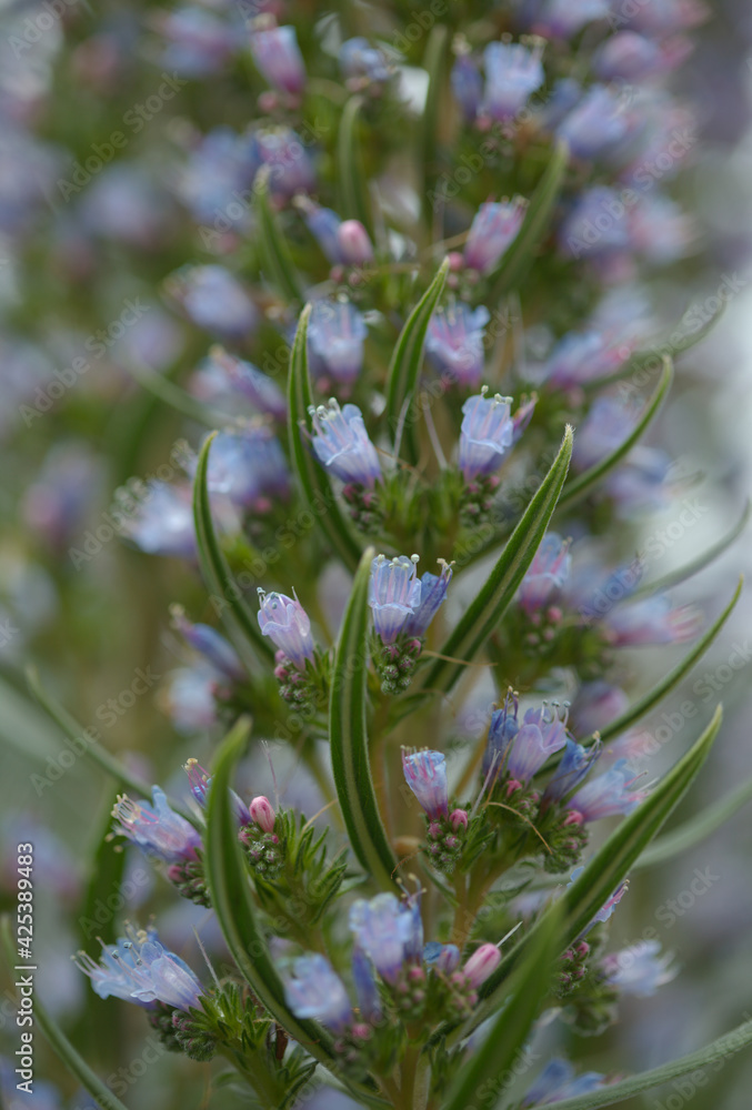
[[[402,436],[410,462],[418,461],[418,437],[415,435],[417,421],[410,418],[409,408],[412,407],[420,369],[423,362],[423,343],[429,322],[439,297],[441,296],[447,274],[449,273],[449,259],[444,259],[439,268],[439,272],[423,293],[422,297],[408,316],[408,321],[400,332],[397,346],[389,365],[389,377],[387,382],[387,418],[394,440],[400,426],[404,428]]]

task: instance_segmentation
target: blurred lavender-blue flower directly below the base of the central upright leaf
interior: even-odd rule
[[[382,979],[394,983],[408,960],[423,951],[420,907],[400,901],[394,895],[359,898],[350,908],[350,930]]]

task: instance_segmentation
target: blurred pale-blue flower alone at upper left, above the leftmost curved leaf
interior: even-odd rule
[[[224,266],[188,266],[172,274],[168,286],[199,327],[230,340],[255,331],[255,305]]]

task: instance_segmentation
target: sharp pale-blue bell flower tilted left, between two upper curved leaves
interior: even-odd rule
[[[313,451],[319,462],[341,482],[372,490],[381,478],[375,447],[368,437],[365,424],[357,405],[340,410],[332,397],[329,407],[311,408],[314,436]]]

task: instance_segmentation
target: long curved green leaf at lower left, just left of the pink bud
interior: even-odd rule
[[[333,1059],[332,1038],[314,1021],[295,1018],[284,1000],[284,986],[271,961],[238,841],[232,806],[232,773],[245,749],[250,722],[241,718],[222,743],[213,767],[207,806],[204,862],[211,905],[227,946],[255,997],[274,1021],[320,1063]]]

